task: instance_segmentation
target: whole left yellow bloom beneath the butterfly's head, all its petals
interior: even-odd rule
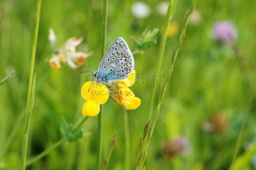
[[[100,104],[104,104],[108,100],[108,88],[103,83],[88,81],[82,86],[81,95],[88,100],[84,103],[83,115],[95,116],[100,112]]]

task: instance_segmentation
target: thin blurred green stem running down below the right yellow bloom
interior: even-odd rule
[[[130,131],[129,131],[129,119],[127,110],[124,108],[124,134],[125,134],[125,159],[124,165],[125,170],[129,170],[129,160],[130,160]]]

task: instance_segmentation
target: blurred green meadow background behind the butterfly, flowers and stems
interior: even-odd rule
[[[132,14],[131,6],[134,2],[109,1],[107,46],[117,37],[123,37],[131,51],[134,51],[131,36],[139,38],[140,33],[147,27],[161,30],[164,16],[156,10],[161,1],[144,1],[151,9],[147,18],[136,18]],[[176,23],[178,31],[167,38],[162,67],[162,72],[166,74],[190,4],[188,0],[179,0],[177,3],[172,22]],[[102,6],[102,0],[42,2],[35,61],[37,93],[30,124],[27,159],[43,152],[62,137],[60,116],[64,116],[71,124],[83,116],[82,106],[85,100],[80,91],[82,85],[89,81],[85,78],[90,72],[81,74],[78,71],[98,69],[101,60]],[[252,161],[256,154],[255,147],[250,150],[244,146],[248,143],[255,145],[253,139],[256,135],[255,91],[249,88],[255,87],[251,80],[256,76],[256,1],[199,0],[195,10],[200,18],[197,23],[188,24],[149,145],[146,169],[228,169],[246,109],[249,109],[249,115],[238,152],[237,161],[240,162],[236,162],[236,167],[242,165],[243,169],[255,169],[256,163],[254,162],[253,167]],[[0,169],[13,169],[20,165],[25,120],[18,118],[26,107],[35,11],[36,1],[0,1],[0,79],[12,70],[16,71],[0,86],[0,150],[6,147],[6,140],[12,129],[19,127],[6,152],[0,157]],[[212,26],[217,20],[231,20],[236,26],[237,47],[244,56],[246,73],[241,70],[233,49],[213,39]],[[47,71],[49,64],[46,59],[51,54],[48,41],[50,27],[56,34],[57,47],[70,37],[84,38],[77,50],[93,52],[85,60],[84,66],[72,70],[62,64],[58,71],[52,68]],[[134,92],[149,92],[153,89],[150,86],[150,76],[157,67],[160,37],[161,31],[156,45],[143,54],[134,55],[136,72],[145,73],[146,78],[145,89],[134,85],[130,88]],[[253,95],[253,100],[248,103],[250,94]],[[148,122],[151,98],[137,97],[141,99],[140,107],[128,110],[131,169],[136,162],[140,137]],[[157,103],[158,96],[155,105]],[[106,157],[108,145],[116,133],[116,143],[108,169],[121,170],[124,169],[125,159],[123,107],[109,99],[102,108],[103,158]],[[227,125],[216,133],[203,130],[202,125],[211,122],[216,113],[224,117]],[[61,145],[28,169],[95,169],[97,121],[97,116],[90,117],[83,126],[84,131],[92,133],[90,136]],[[217,118],[215,122],[221,121]],[[184,136],[189,140],[189,153],[165,160],[162,154],[163,145],[177,136]]]

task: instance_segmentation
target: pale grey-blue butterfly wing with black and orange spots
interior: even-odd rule
[[[132,53],[122,37],[117,38],[106,51],[98,69],[98,76],[106,81],[128,78],[134,70]]]

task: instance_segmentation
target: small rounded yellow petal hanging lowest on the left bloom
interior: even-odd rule
[[[96,100],[88,100],[84,103],[82,113],[84,116],[96,116],[100,113],[100,105]]]

